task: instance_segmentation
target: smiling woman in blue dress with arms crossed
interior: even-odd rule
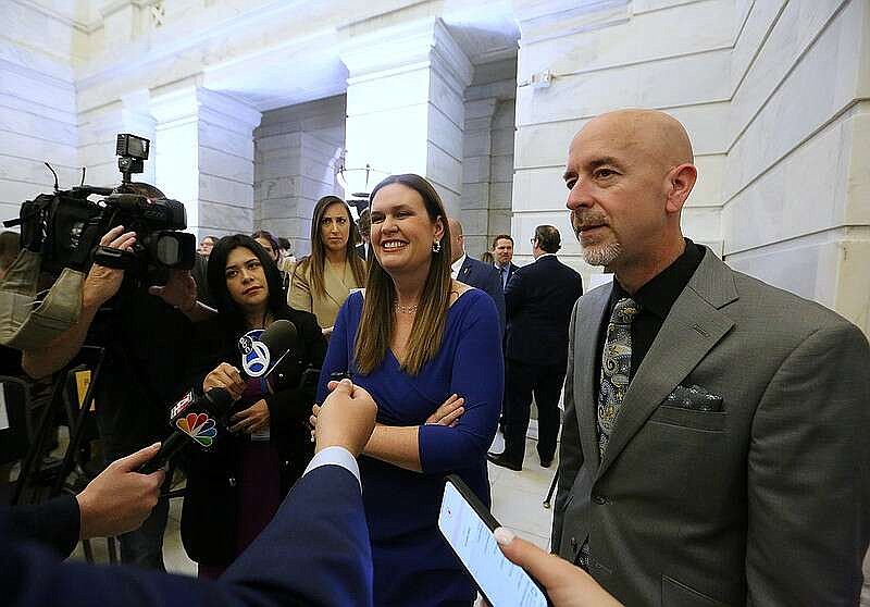
[[[374,604],[469,606],[473,583],[437,519],[449,473],[489,505],[486,450],[504,391],[498,313],[488,295],[451,280],[447,214],[423,177],[381,182],[371,220],[366,287],[338,313],[318,401],[331,375],[349,373],[377,404],[360,458]]]

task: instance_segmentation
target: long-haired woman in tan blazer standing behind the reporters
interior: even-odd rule
[[[337,196],[324,196],[311,220],[311,255],[296,264],[289,304],[312,312],[324,335],[332,332],[338,308],[365,283],[365,262],[357,255],[357,224]]]

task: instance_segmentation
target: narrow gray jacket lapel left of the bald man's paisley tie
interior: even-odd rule
[[[601,329],[612,286],[597,288],[580,299],[574,333],[574,407],[580,425],[583,460],[598,469],[597,386],[598,332]]]

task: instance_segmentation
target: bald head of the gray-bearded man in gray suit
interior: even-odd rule
[[[643,284],[685,248],[680,215],[697,178],[683,125],[663,112],[619,110],[571,141],[564,183],[587,263]]]

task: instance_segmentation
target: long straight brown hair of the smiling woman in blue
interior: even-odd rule
[[[377,191],[390,184],[401,184],[417,191],[426,207],[426,213],[434,223],[438,218],[444,225],[439,244],[440,252],[432,253],[426,282],[420,295],[418,313],[408,339],[408,349],[401,368],[411,375],[417,375],[423,366],[435,358],[444,338],[447,324],[447,309],[450,306],[450,227],[447,225],[447,212],[444,210],[438,193],[426,179],[413,173],[390,175],[372,190],[369,206]],[[369,280],[365,284],[365,299],[362,305],[362,318],[357,331],[353,348],[357,370],[368,374],[383,362],[393,340],[396,324],[396,285],[386,273],[377,257],[372,255],[369,262]]]

